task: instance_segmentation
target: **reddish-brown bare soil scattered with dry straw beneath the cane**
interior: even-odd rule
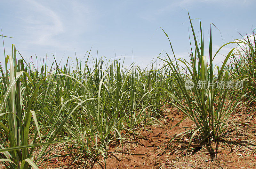
[[[106,159],[107,168],[255,168],[256,167],[256,107],[240,106],[229,117],[225,137],[210,145],[192,142],[188,150],[188,137],[179,142],[170,139],[192,126],[188,119],[170,130],[185,115],[176,108],[163,108],[164,119],[147,130],[138,130],[140,135],[130,135],[120,144],[112,143]],[[234,127],[234,124],[237,128]],[[148,131],[150,130],[150,131]],[[238,134],[238,136],[237,136]],[[196,140],[196,139],[195,139]],[[187,153],[188,150],[188,153]],[[84,159],[63,148],[55,149],[43,161],[43,168],[105,168],[104,159]]]

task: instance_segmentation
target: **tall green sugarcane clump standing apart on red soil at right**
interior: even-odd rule
[[[240,99],[243,97],[242,93],[244,89],[241,89],[241,84],[236,82],[235,85],[238,85],[236,90],[237,95],[236,97],[228,98],[230,89],[230,84],[228,84],[229,73],[225,68],[234,48],[230,50],[221,66],[213,65],[214,58],[218,52],[229,43],[224,44],[213,55],[212,25],[213,24],[211,24],[209,37],[209,56],[206,57],[204,55],[204,35],[202,33],[201,21],[200,36],[199,40],[197,40],[190,19],[195,50],[193,52],[192,42],[190,41],[191,54],[189,55],[189,61],[185,59],[176,59],[171,41],[168,35],[164,32],[169,39],[174,59],[172,60],[166,53],[167,57],[162,60],[168,63],[167,67],[172,72],[174,77],[173,81],[178,86],[184,99],[178,99],[173,93],[168,90],[166,91],[168,91],[174,99],[172,106],[177,107],[180,111],[186,114],[186,117],[180,122],[189,118],[194,123],[194,126],[191,126],[190,129],[189,126],[187,126],[187,130],[174,136],[172,140],[175,138],[179,138],[178,140],[180,140],[183,136],[188,135],[190,137],[188,147],[196,134],[199,138],[199,143],[203,143],[204,141],[210,143],[223,136],[225,129],[228,127],[228,117],[238,106]],[[177,125],[179,124],[180,123]]]

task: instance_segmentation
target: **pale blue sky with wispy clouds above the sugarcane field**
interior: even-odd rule
[[[66,62],[68,56],[84,58],[92,47],[92,57],[98,55],[110,58],[126,57],[129,64],[134,61],[144,66],[161,51],[171,54],[169,35],[177,57],[188,58],[188,38],[191,18],[200,18],[204,29],[205,45],[208,44],[210,23],[213,29],[213,48],[241,39],[251,34],[256,18],[253,15],[253,0],[180,0],[180,1],[2,1],[0,26],[6,54],[12,53],[16,45],[24,58],[38,60],[46,57],[52,61]],[[199,20],[193,20],[196,32]],[[239,33],[238,33],[239,32]],[[232,46],[220,53],[226,54]],[[234,46],[233,46],[234,47]],[[163,54],[164,54],[163,52]],[[3,45],[0,46],[3,62]],[[161,55],[164,57],[164,55]],[[220,62],[221,55],[216,62]]]

